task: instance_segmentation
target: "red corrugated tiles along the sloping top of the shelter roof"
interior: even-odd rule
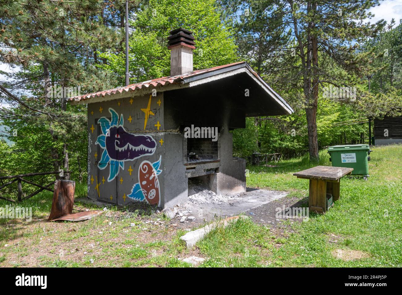
[[[223,69],[225,67],[230,67],[232,65],[237,65],[240,63],[245,63],[245,61],[240,61],[238,63],[231,63],[228,65],[219,65],[217,67],[211,67],[209,69],[192,71],[191,73],[187,73],[187,74],[183,74],[183,75],[162,77],[162,78],[158,78],[158,79],[154,79],[154,80],[149,80],[149,81],[145,81],[145,82],[127,85],[125,87],[118,87],[118,88],[114,88],[114,89],[110,89],[110,90],[104,90],[104,91],[94,92],[94,93],[90,93],[90,94],[84,94],[81,96],[75,96],[72,98],[68,98],[67,100],[78,102],[80,100],[86,100],[88,98],[112,95],[112,94],[122,93],[122,92],[135,91],[135,90],[142,89],[142,88],[148,88],[150,86],[157,87],[157,86],[163,86],[163,85],[167,85],[167,84],[181,83],[181,82],[183,82],[184,78],[188,78],[188,77],[203,74],[203,73],[208,73],[208,72],[215,71],[218,69]]]

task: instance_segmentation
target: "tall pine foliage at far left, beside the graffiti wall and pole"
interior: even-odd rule
[[[12,106],[0,110],[0,120],[10,127],[43,126],[54,142],[43,158],[52,159],[53,169],[69,170],[68,151],[73,147],[68,144],[80,138],[86,116],[84,107],[66,104],[64,91],[52,90],[73,87],[87,93],[110,87],[111,78],[96,67],[104,62],[97,51],[119,50],[123,5],[124,1],[0,0],[0,63],[16,69],[4,73],[7,79],[0,82],[0,99]]]

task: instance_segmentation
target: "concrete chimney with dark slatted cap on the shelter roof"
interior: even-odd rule
[[[181,75],[193,71],[193,32],[183,28],[170,31],[168,37],[170,49],[170,75]]]

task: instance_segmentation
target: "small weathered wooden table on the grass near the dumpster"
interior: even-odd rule
[[[308,207],[310,211],[324,214],[326,212],[326,194],[332,195],[332,200],[336,201],[340,195],[340,178],[351,174],[353,168],[317,166],[293,175],[297,178],[309,179]]]

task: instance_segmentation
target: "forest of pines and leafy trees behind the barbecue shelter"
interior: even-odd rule
[[[246,120],[234,156],[310,153],[368,143],[353,119],[400,115],[402,24],[366,23],[378,1],[130,1],[130,83],[169,75],[169,31],[194,32],[194,69],[247,61],[295,110]],[[51,87],[90,93],[124,85],[124,1],[0,0],[0,175],[59,168],[86,179],[86,105]],[[371,76],[370,92],[367,76]],[[355,99],[325,95],[352,87]],[[351,89],[352,89],[351,88]],[[333,89],[333,88],[331,88]],[[45,177],[43,177],[45,178]],[[38,179],[45,180],[45,179]]]

